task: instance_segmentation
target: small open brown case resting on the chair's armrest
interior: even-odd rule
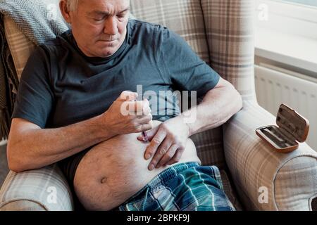
[[[309,120],[285,104],[280,105],[276,124],[257,128],[256,135],[280,153],[296,150],[297,141],[304,142],[309,133]]]

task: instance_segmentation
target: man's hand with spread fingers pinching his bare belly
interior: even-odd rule
[[[154,155],[148,169],[152,170],[154,167],[159,168],[179,162],[189,135],[189,127],[181,116],[167,120],[158,127],[147,131],[151,142],[145,150],[144,158],[149,160]],[[143,136],[138,136],[137,139],[144,141]]]

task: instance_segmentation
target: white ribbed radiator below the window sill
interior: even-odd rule
[[[256,97],[263,108],[277,115],[285,103],[309,120],[306,143],[317,151],[317,79],[271,65],[255,67]]]

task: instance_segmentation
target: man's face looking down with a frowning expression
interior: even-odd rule
[[[73,36],[90,57],[113,55],[125,40],[130,0],[80,0],[70,12]]]

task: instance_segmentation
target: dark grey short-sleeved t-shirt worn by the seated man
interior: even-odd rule
[[[219,75],[178,34],[139,20],[129,20],[127,28],[123,45],[108,58],[85,56],[71,30],[38,46],[23,70],[12,117],[63,127],[101,115],[137,85],[143,94],[179,90],[201,97],[218,83]],[[175,96],[164,98],[163,108],[151,105],[154,120],[180,114]]]

